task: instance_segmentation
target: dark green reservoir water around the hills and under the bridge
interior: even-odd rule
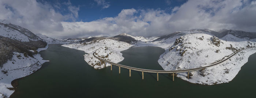
[[[157,60],[164,52],[158,47],[137,47],[125,50],[120,64],[146,69],[162,69]],[[256,88],[256,53],[249,57],[238,75],[229,83],[192,84],[172,76],[129,71],[113,66],[94,70],[84,61],[83,51],[51,44],[40,52],[45,60],[35,73],[18,81],[13,98],[90,98],[90,97],[253,97]]]

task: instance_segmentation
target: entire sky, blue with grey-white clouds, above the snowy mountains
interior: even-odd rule
[[[256,32],[256,0],[0,0],[0,19],[52,38]]]

